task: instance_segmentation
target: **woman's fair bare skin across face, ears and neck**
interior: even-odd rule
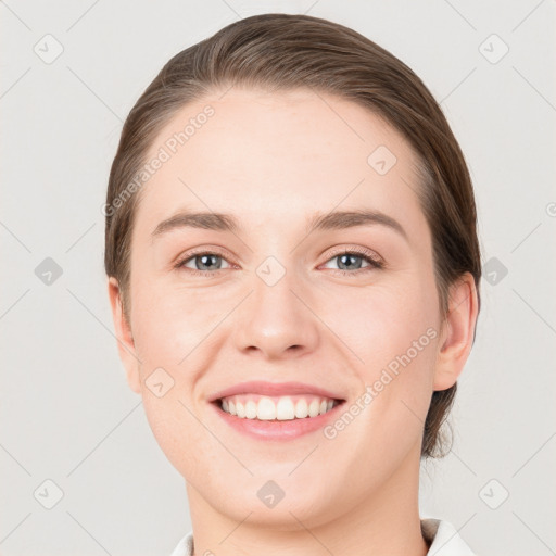
[[[117,281],[108,285],[127,380],[186,480],[195,554],[422,556],[422,425],[432,391],[453,386],[464,368],[478,307],[467,274],[441,320],[417,157],[391,126],[348,100],[238,88],[184,106],[151,155],[207,104],[214,116],[141,190],[129,323]],[[397,159],[383,176],[367,163],[378,146]],[[157,224],[182,207],[232,214],[241,228],[174,229],[152,241]],[[408,240],[379,225],[305,231],[317,211],[361,208],[392,216]],[[219,249],[224,258],[208,263],[222,265],[214,276],[192,274],[199,257],[173,267],[193,248]],[[387,267],[355,257],[366,271],[343,276],[339,248],[367,249]],[[268,256],[286,270],[271,287],[256,274]],[[437,338],[333,440],[323,431],[253,440],[207,403],[238,382],[294,380],[350,404],[429,327]],[[159,367],[174,379],[162,397],[146,387]],[[274,508],[256,495],[268,480],[285,492]]]

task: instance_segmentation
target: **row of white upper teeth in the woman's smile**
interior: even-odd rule
[[[281,396],[268,397],[258,395],[230,396],[222,400],[222,409],[242,419],[258,420],[292,420],[317,417],[332,407],[336,402],[319,396]]]

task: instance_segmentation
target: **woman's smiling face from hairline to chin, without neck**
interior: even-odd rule
[[[136,213],[122,356],[190,495],[238,522],[316,525],[415,473],[445,337],[408,143],[348,100],[231,89],[185,106],[149,160],[161,149]],[[353,212],[375,217],[334,214]],[[210,217],[175,218],[187,213]],[[247,381],[304,384],[273,396],[292,394],[300,415],[317,389],[342,403],[224,414],[215,396]],[[249,392],[228,401],[261,408]],[[286,502],[271,511],[268,481]]]

